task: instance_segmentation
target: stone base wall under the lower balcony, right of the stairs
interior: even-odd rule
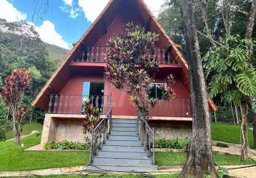
[[[165,138],[184,138],[192,136],[192,123],[175,123],[175,122],[154,122],[150,123],[150,127],[154,127],[155,140]]]

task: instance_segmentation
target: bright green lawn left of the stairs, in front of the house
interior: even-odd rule
[[[39,144],[41,137],[31,135],[22,142],[24,149]],[[69,167],[87,164],[89,152],[24,151],[14,141],[0,142],[0,171],[19,171]]]

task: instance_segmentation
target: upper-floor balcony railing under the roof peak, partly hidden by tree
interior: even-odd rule
[[[107,52],[109,47],[107,46],[94,46],[85,47],[74,62],[87,62],[87,63],[104,63],[107,62]],[[145,54],[152,61],[157,64],[177,64],[177,62],[172,58],[167,48],[155,48],[154,55],[150,55],[149,51]]]

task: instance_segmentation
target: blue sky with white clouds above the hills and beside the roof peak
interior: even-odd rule
[[[0,19],[31,23],[42,41],[70,49],[109,0],[49,0],[46,11],[42,8],[44,6],[40,6],[42,12],[33,16],[41,1],[43,0],[0,0]],[[144,1],[154,16],[158,16],[165,0]]]

